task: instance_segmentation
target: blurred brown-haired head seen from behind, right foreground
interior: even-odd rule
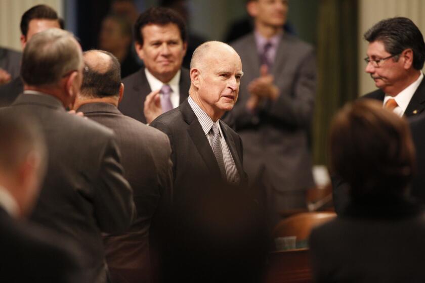
[[[414,167],[407,121],[362,99],[345,106],[330,130],[332,169],[351,186],[353,200],[401,197]]]

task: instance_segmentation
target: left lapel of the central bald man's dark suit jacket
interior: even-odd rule
[[[220,168],[216,160],[216,156],[212,152],[211,146],[209,145],[208,139],[202,130],[201,124],[199,123],[195,113],[189,105],[189,102],[185,100],[180,105],[180,111],[183,114],[183,118],[186,123],[189,124],[187,129],[190,138],[196,146],[200,156],[205,162],[206,166],[211,171],[211,174],[220,176]]]

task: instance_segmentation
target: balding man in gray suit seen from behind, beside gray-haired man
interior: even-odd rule
[[[117,109],[124,85],[119,62],[112,54],[92,50],[83,57],[86,70],[74,109],[115,132],[137,208],[137,218],[127,232],[104,237],[106,261],[113,282],[149,282],[148,238],[155,237],[151,222],[160,219],[172,197],[169,140],[161,131]]]

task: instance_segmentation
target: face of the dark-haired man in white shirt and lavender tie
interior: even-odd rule
[[[143,45],[136,51],[146,68],[162,82],[171,80],[182,66],[187,43],[176,24],[146,25],[142,28]]]

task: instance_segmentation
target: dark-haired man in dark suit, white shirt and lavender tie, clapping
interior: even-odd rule
[[[134,27],[136,51],[144,67],[124,78],[122,114],[143,123],[179,106],[189,93],[189,71],[182,68],[187,50],[186,26],[176,12],[150,8]]]

